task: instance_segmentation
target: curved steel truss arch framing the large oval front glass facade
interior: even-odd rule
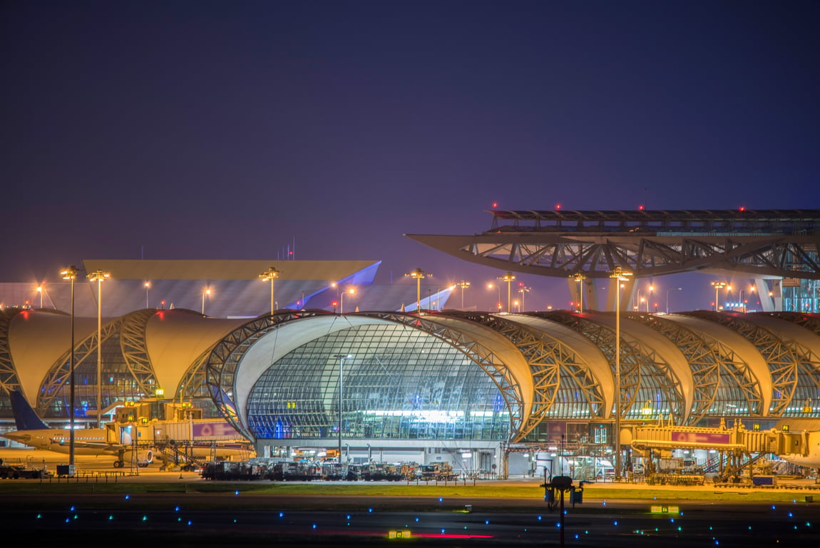
[[[248,322],[244,326],[232,331],[214,347],[212,353],[208,356],[205,366],[206,381],[208,389],[211,391],[212,399],[226,420],[246,436],[248,440],[254,439],[253,433],[239,421],[239,415],[234,402],[235,378],[240,359],[255,341],[276,329],[276,327],[284,322],[319,315],[332,314],[316,311],[300,311],[297,313],[277,313],[273,316],[257,318],[253,320],[253,322]],[[509,410],[510,432],[514,434],[521,428],[524,408],[521,386],[518,385],[515,377],[508,371],[507,366],[501,359],[485,345],[465,336],[458,330],[435,322],[435,317],[386,312],[353,313],[351,315],[376,317],[388,322],[413,327],[426,332],[428,335],[435,336],[448,345],[453,346],[453,348],[458,349],[484,370],[490,379],[492,379],[495,386],[499,388],[499,393]]]

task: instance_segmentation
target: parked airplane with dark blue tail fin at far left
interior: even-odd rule
[[[54,451],[56,453],[71,452],[71,430],[68,428],[52,428],[43,422],[31,409],[29,402],[19,390],[10,390],[11,411],[14,413],[16,430],[6,432],[3,437],[16,441],[34,449]],[[124,443],[107,441],[105,428],[75,428],[74,454],[110,455],[115,457],[114,468],[123,468],[126,460],[131,461],[136,451],[136,463],[144,468],[153,462],[153,450],[138,448]]]

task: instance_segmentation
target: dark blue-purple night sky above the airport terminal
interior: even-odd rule
[[[0,280],[290,246],[489,308],[503,272],[403,235],[493,203],[820,208],[818,28],[799,1],[5,0]],[[656,285],[708,308],[712,279]]]

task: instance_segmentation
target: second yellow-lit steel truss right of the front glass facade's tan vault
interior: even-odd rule
[[[527,313],[529,316],[544,317],[558,322],[573,331],[581,333],[604,353],[615,376],[615,331],[588,318],[563,311]],[[653,381],[658,386],[653,386]],[[622,418],[640,418],[641,393],[652,393],[655,412],[672,415],[676,422],[685,422],[688,410],[682,404],[685,400],[681,381],[672,368],[654,349],[621,330],[621,390],[616,390],[622,399],[619,408]],[[615,404],[609,413],[615,415]]]

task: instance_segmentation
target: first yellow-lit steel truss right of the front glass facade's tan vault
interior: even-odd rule
[[[583,418],[600,418],[604,413],[604,396],[589,365],[560,340],[490,313],[449,310],[445,315],[490,327],[516,345],[526,358],[534,382],[533,404],[530,416],[513,442],[524,439],[544,418],[556,412],[556,398],[562,386],[564,390],[578,394],[573,404],[586,409]]]

